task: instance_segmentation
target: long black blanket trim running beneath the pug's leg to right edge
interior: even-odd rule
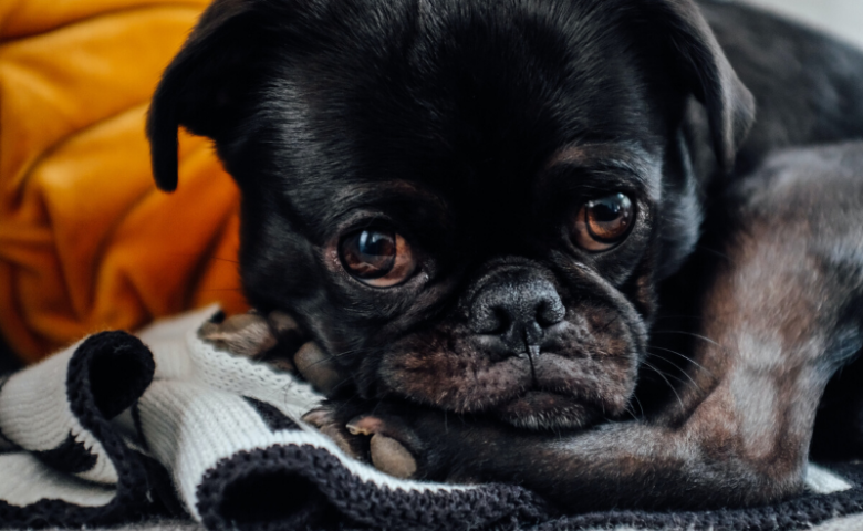
[[[422,492],[364,482],[329,451],[273,446],[219,461],[198,488],[198,511],[211,530],[416,529],[524,530],[668,529],[804,530],[863,512],[863,465],[833,467],[854,488],[807,493],[767,507],[714,511],[606,511],[553,514],[534,494],[511,486]]]

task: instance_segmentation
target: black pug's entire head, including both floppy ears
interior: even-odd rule
[[[656,282],[697,238],[682,122],[730,164],[751,121],[688,1],[216,1],[150,110],[242,191],[249,301],[364,397],[529,428],[620,414]]]

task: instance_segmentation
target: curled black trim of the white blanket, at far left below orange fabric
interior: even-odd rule
[[[112,371],[123,374],[111,374]],[[105,448],[117,470],[116,496],[102,507],[40,500],[27,507],[0,501],[0,527],[39,529],[111,525],[142,520],[153,512],[147,472],[137,454],[124,445],[108,418],[128,407],[153,381],[149,350],[125,332],[103,332],[77,347],[69,362],[66,394],[81,426]],[[105,378],[114,378],[112,382]],[[122,385],[119,385],[122,383]],[[118,400],[117,404],[107,400]],[[107,418],[106,418],[107,417]]]

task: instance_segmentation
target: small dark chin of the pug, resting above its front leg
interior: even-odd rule
[[[495,415],[517,428],[534,431],[585,428],[601,419],[599,408],[547,391],[529,391],[495,408]]]

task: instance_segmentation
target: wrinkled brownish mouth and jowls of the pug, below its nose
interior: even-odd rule
[[[531,430],[584,428],[614,416],[626,407],[634,387],[634,366],[625,358],[573,358],[547,352],[497,363],[446,352],[393,357],[398,362],[386,371],[388,392]]]

